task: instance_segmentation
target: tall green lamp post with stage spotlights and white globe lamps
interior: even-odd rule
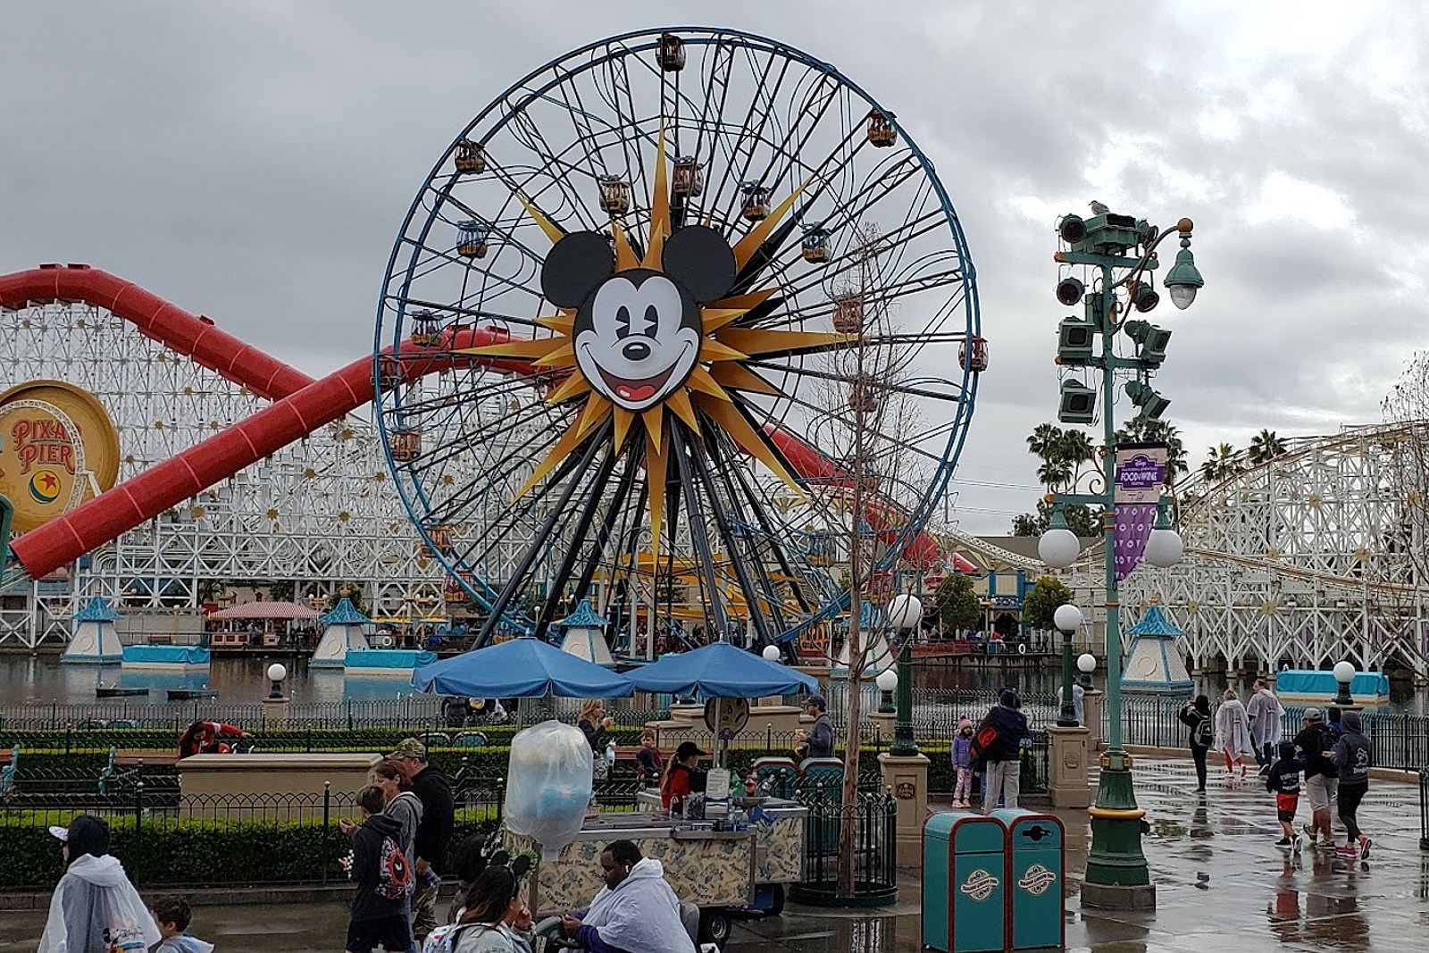
[[[1062,304],[1082,303],[1083,317],[1066,317],[1057,326],[1056,363],[1063,369],[1090,369],[1100,374],[1103,427],[1103,471],[1096,493],[1050,494],[1052,520],[1037,543],[1042,560],[1055,569],[1076,562],[1079,542],[1067,529],[1065,506],[1102,509],[1102,544],[1106,603],[1106,707],[1107,750],[1100,759],[1096,803],[1092,804],[1092,846],[1087,853],[1082,903],[1095,907],[1150,909],[1156,906],[1156,887],[1150,882],[1142,853],[1143,812],[1136,804],[1132,786],[1132,759],[1122,747],[1122,633],[1116,576],[1116,391],[1119,379],[1126,396],[1139,409],[1137,419],[1159,420],[1170,401],[1152,389],[1150,379],[1166,360],[1170,331],[1145,320],[1127,320],[1130,311],[1147,313],[1159,303],[1149,280],[1157,267],[1156,247],[1172,234],[1180,240],[1176,263],[1163,284],[1172,304],[1186,309],[1205,284],[1190,253],[1190,219],[1175,230],[1160,231],[1146,220],[1116,214],[1092,203],[1093,216],[1069,214],[1057,223],[1062,247],[1059,264],[1090,270],[1087,283],[1065,276],[1056,286]],[[1086,284],[1092,291],[1086,291]],[[1135,343],[1135,356],[1117,354],[1117,333]],[[1057,419],[1063,423],[1090,424],[1096,419],[1097,390],[1066,379],[1062,381]],[[1155,490],[1155,487],[1142,487]],[[1157,509],[1156,527],[1146,539],[1145,557],[1153,566],[1170,566],[1180,557],[1180,537],[1170,526],[1165,507]]]

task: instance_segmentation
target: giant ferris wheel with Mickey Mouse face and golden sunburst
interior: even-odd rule
[[[986,367],[962,226],[895,114],[732,30],[629,33],[496,97],[432,169],[377,310],[392,476],[482,639],[787,640],[937,557]],[[936,550],[936,547],[933,547]]]

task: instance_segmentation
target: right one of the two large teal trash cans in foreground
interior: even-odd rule
[[[1009,950],[1063,946],[1066,836],[1053,814],[995,810],[1007,829]]]

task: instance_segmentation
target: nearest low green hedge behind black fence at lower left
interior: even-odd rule
[[[64,826],[71,812],[0,813],[0,889],[53,889],[63,873],[60,844],[50,824]],[[349,850],[337,830],[337,816],[324,830],[322,819],[296,822],[237,822],[203,817],[144,817],[109,814],[110,853],[124,863],[140,887],[224,886],[272,883],[344,883],[337,866]],[[453,846],[496,826],[494,809],[456,813]]]

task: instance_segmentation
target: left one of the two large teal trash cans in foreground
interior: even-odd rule
[[[996,817],[953,810],[923,823],[923,946],[943,953],[1007,944],[1007,829]]]

